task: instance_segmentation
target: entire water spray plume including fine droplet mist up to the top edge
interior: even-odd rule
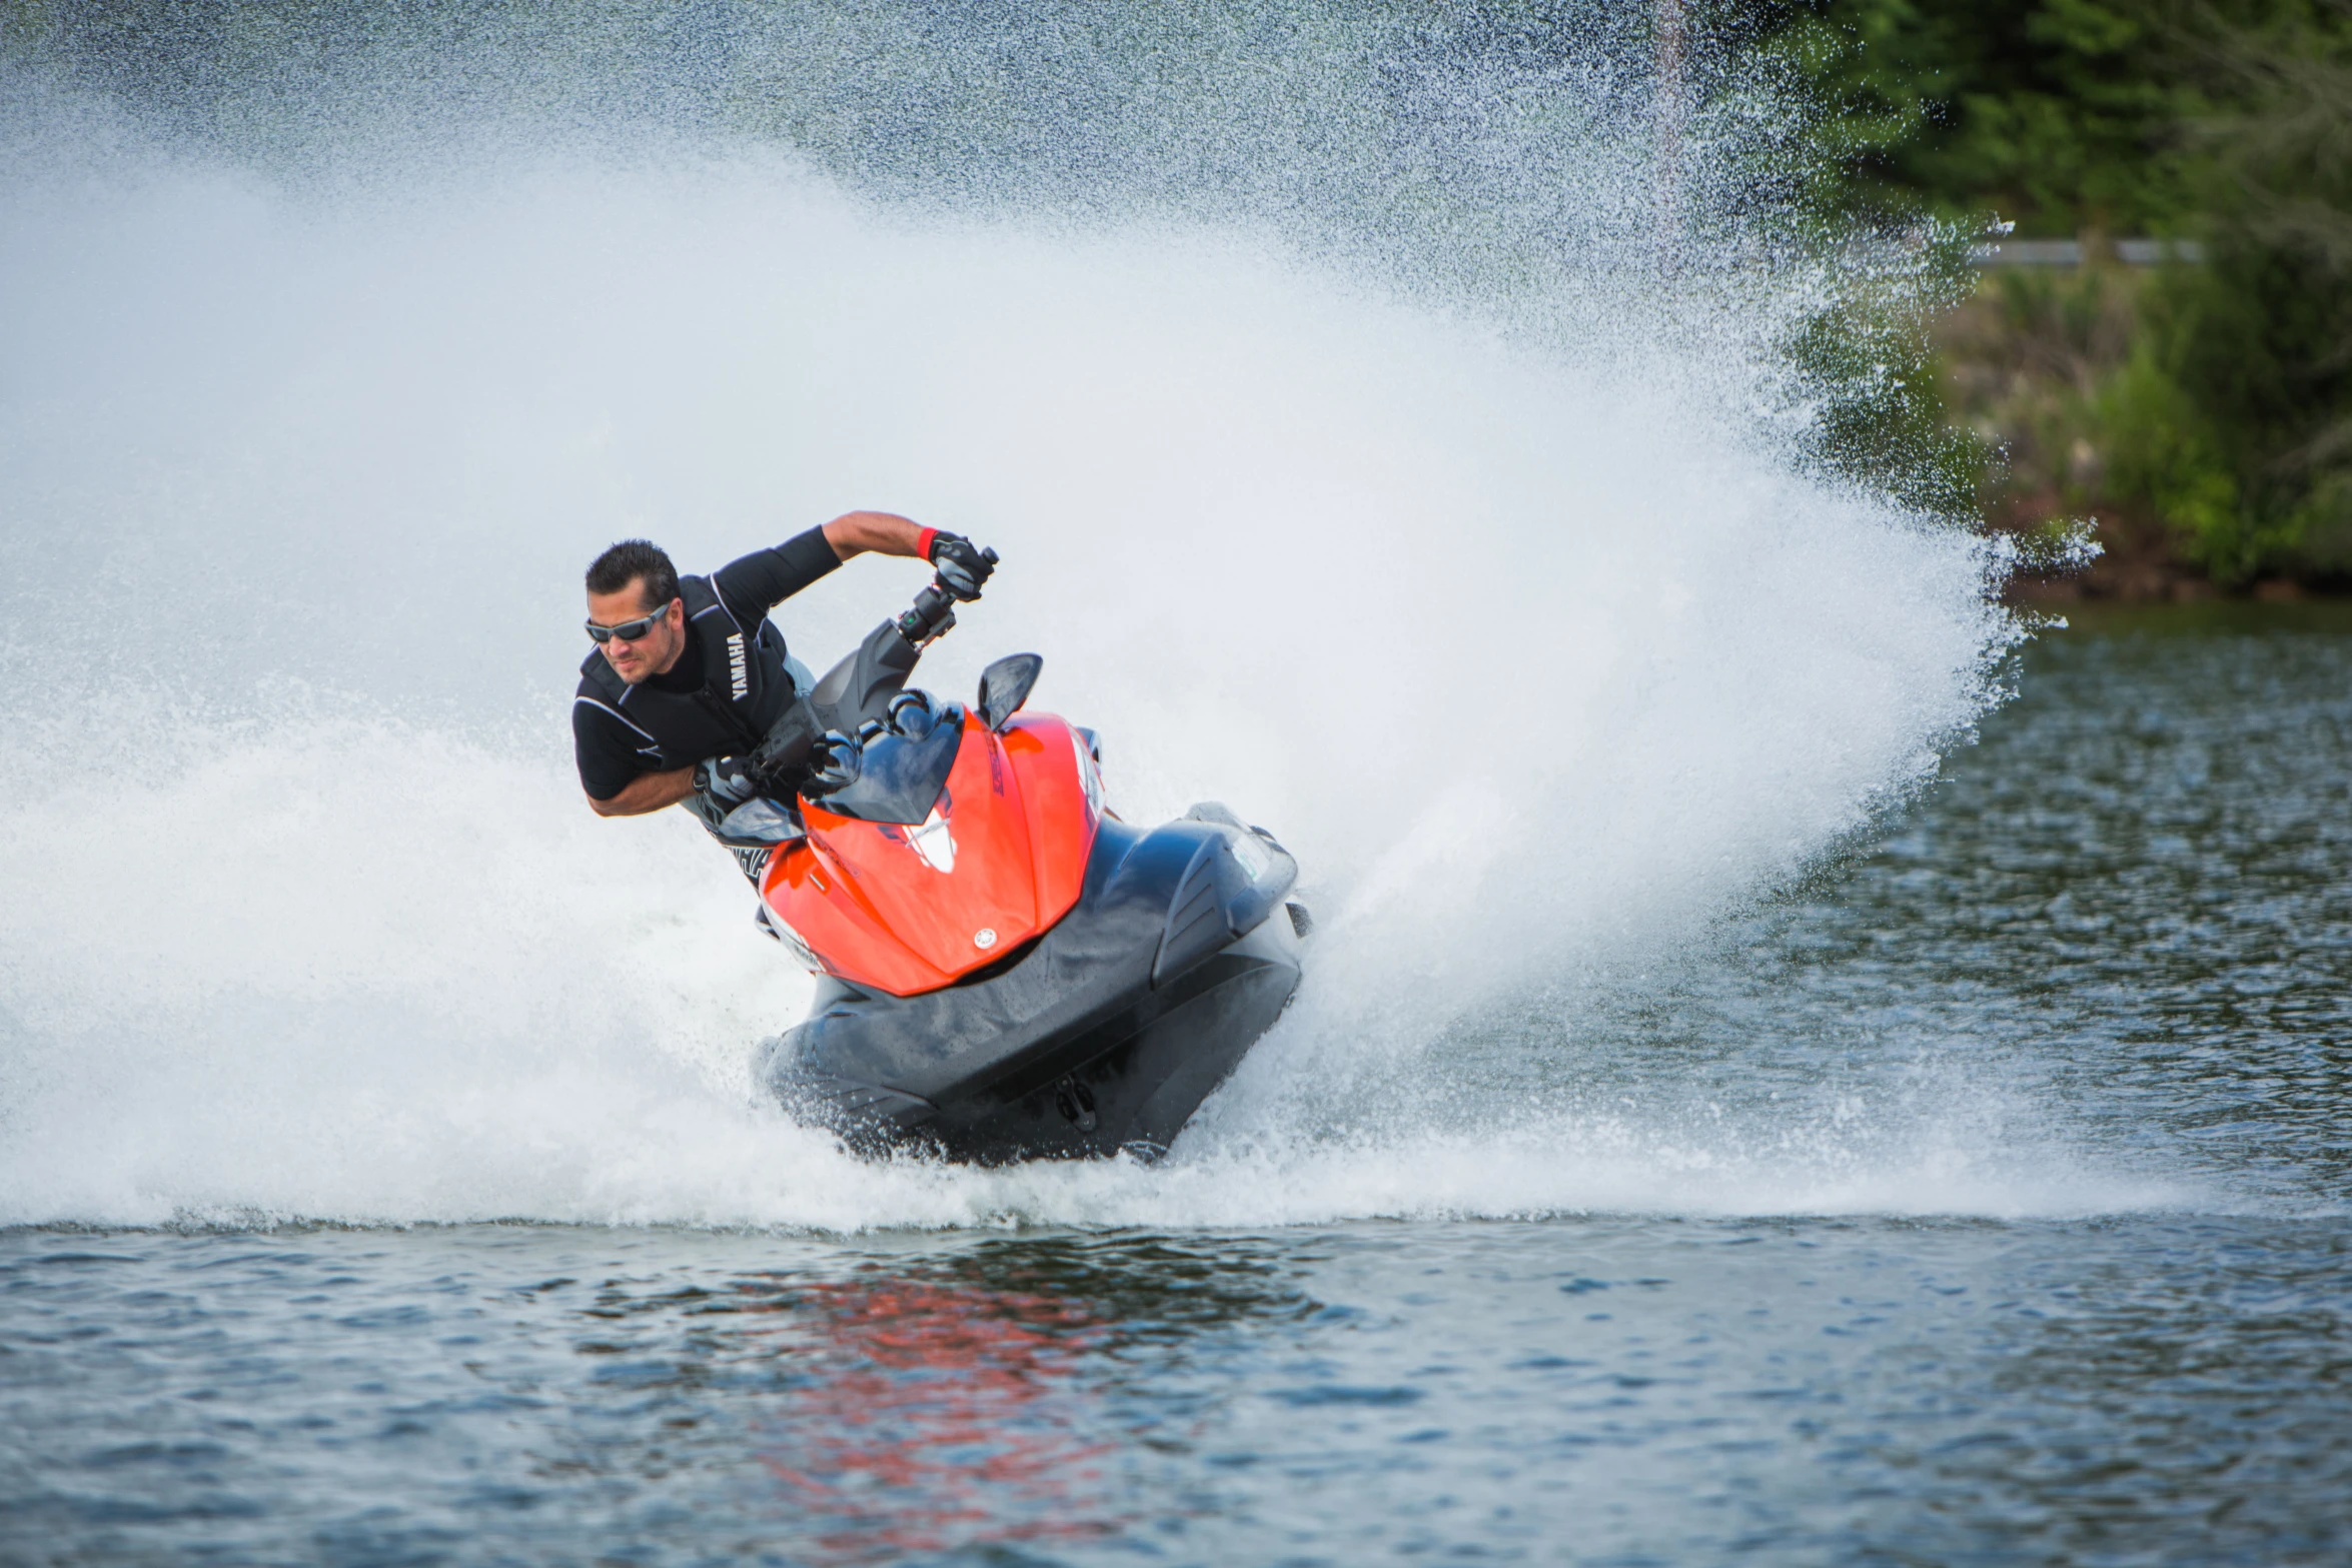
[[[0,1218],[1223,1222],[1411,1208],[1411,1150],[1479,1211],[1479,1133],[1350,1084],[1677,952],[1994,696],[1994,555],[1804,461],[1773,343],[1846,284],[1757,174],[1795,110],[1705,49],[1661,268],[1613,12],[597,14],[9,68]],[[1171,1171],[788,1126],[748,1060],[804,978],[699,830],[579,804],[586,557],[849,505],[1004,552],[931,686],[1037,649],[1129,818],[1230,799],[1308,867],[1310,987]],[[913,588],[783,623],[821,663]],[[1512,1211],[1919,1187],[1505,1124]]]

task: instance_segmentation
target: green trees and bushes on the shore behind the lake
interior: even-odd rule
[[[1955,277],[1832,461],[1973,494],[2013,599],[2352,592],[2352,0],[1799,0],[1759,42],[1825,214],[2079,252]]]

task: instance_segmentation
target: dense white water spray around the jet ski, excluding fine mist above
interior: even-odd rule
[[[1985,550],[1738,423],[1736,334],[1534,348],[1263,233],[922,216],[741,146],[320,195],[132,132],[66,158],[64,113],[14,122],[0,219],[0,1220],[2117,1199],[1987,1173],[1966,1126],[1813,1159],[1350,1098],[1675,952],[1990,701]],[[1310,987],[1164,1168],[790,1126],[748,1063],[807,980],[691,823],[579,802],[581,564],[851,505],[1004,555],[927,684],[1035,649],[1127,816],[1228,799],[1308,867]],[[917,583],[861,559],[779,618],[821,663]]]

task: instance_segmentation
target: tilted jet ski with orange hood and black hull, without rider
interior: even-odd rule
[[[1298,990],[1298,863],[1221,804],[1110,813],[1094,731],[1025,708],[1035,654],[969,708],[910,686],[953,607],[877,625],[706,816],[816,973],[760,1074],[868,1154],[1155,1159]]]

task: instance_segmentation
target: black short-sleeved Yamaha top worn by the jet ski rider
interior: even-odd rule
[[[602,649],[581,663],[572,752],[581,788],[612,799],[644,773],[748,752],[793,701],[783,632],[767,611],[840,567],[823,529],[755,550],[708,578],[677,578],[687,649],[668,675],[635,686]]]

